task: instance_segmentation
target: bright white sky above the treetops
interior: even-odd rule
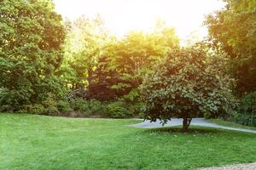
[[[53,0],[55,10],[70,20],[82,14],[93,18],[100,14],[105,25],[118,37],[128,31],[150,31],[156,20],[176,29],[177,36],[188,39],[207,36],[202,26],[205,15],[224,8],[221,0]]]

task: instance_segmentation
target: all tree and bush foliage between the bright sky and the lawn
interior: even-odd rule
[[[62,20],[50,1],[0,1],[0,111],[255,125],[256,3],[226,2],[207,16],[208,39],[183,48],[162,22],[118,38],[100,16]]]

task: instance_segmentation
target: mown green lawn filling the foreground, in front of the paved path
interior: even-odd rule
[[[137,120],[0,114],[0,169],[196,169],[256,161],[256,135]]]

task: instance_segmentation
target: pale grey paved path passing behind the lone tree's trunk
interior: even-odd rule
[[[164,127],[175,127],[183,124],[183,119],[177,119],[177,118],[172,118],[172,121],[168,121]],[[195,125],[195,126],[202,126],[202,127],[215,127],[215,128],[224,128],[224,129],[229,129],[229,130],[236,130],[236,131],[241,131],[241,132],[246,132],[246,133],[256,133],[256,130],[250,130],[250,129],[245,129],[245,128],[236,128],[236,127],[225,127],[221,126],[212,122],[207,122],[204,118],[194,118],[192,119],[192,122],[190,125]],[[143,127],[143,128],[155,128],[155,127],[162,127],[160,124],[160,121],[157,120],[156,122],[150,122],[150,121],[145,121],[145,122],[140,122],[137,124],[130,125],[131,127]]]

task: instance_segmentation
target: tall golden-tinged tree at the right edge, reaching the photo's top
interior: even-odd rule
[[[256,90],[256,1],[224,0],[224,10],[207,16],[206,25],[216,48],[230,55],[230,74],[236,92]]]

